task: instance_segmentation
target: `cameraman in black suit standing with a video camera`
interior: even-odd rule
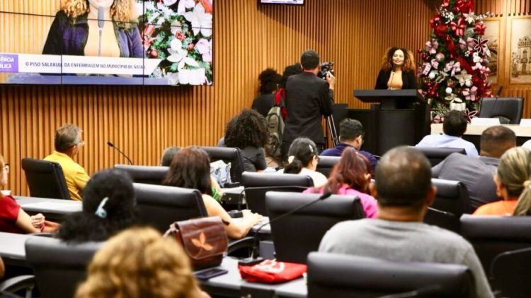
[[[314,141],[319,152],[324,150],[321,117],[332,114],[333,85],[336,78],[329,72],[325,79],[319,73],[319,54],[309,49],[300,58],[303,72],[287,78],[286,100],[287,118],[282,137],[282,155],[295,138],[307,137]]]

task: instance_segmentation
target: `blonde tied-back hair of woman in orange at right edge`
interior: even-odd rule
[[[507,150],[501,155],[496,176],[508,196],[518,196],[513,215],[531,215],[531,150],[522,147]]]

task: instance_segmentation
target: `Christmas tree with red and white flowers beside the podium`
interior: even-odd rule
[[[419,92],[430,104],[435,122],[450,109],[462,110],[471,119],[479,99],[492,96],[487,82],[489,40],[483,38],[486,16],[476,16],[472,0],[444,0],[430,20],[433,32],[425,48],[418,50],[418,76]]]

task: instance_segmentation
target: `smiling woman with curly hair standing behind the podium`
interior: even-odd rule
[[[416,89],[415,61],[408,49],[390,47],[382,58],[375,89]]]

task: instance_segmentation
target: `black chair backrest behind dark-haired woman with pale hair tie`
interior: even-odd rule
[[[25,242],[26,261],[35,272],[42,297],[74,297],[86,280],[86,267],[103,242],[67,244],[56,238],[30,237]]]

